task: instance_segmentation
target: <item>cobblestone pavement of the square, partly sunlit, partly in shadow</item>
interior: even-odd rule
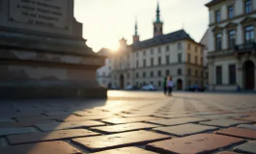
[[[108,95],[1,101],[0,154],[256,154],[256,94]]]

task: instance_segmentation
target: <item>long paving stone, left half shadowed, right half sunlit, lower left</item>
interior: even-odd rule
[[[30,133],[21,135],[11,135],[7,136],[8,141],[11,144],[21,144],[21,143],[32,143],[40,141],[58,141],[66,140],[78,137],[89,137],[96,136],[99,133],[91,132],[85,129],[71,129],[71,130],[59,130],[52,132],[40,132],[40,133]]]

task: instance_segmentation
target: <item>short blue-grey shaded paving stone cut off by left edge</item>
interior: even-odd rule
[[[33,127],[22,127],[22,128],[0,128],[0,136],[7,136],[13,134],[25,134],[34,133],[37,130]]]

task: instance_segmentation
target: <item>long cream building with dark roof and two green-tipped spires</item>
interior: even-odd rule
[[[159,6],[154,38],[140,41],[137,28],[136,23],[133,43],[128,45],[126,39],[121,39],[119,51],[112,57],[111,84],[120,89],[148,84],[162,89],[163,78],[172,76],[176,90],[204,85],[203,45],[184,30],[163,35]]]

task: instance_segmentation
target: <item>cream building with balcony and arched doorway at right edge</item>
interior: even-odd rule
[[[256,90],[256,1],[213,0],[210,13],[211,90]]]

